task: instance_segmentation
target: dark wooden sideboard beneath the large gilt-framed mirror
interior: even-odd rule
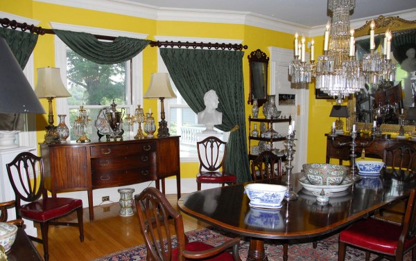
[[[339,159],[339,164],[343,165],[343,161],[349,161],[349,155],[351,154],[351,147],[349,145],[345,145],[340,147],[339,143],[347,143],[352,141],[351,136],[348,135],[338,135],[335,138],[331,138],[331,136],[325,134],[327,136],[327,163],[329,163],[330,159]],[[363,146],[360,144],[369,143],[371,138],[363,138],[359,137],[356,138],[356,155],[357,159],[361,157],[361,153],[365,152],[365,157],[371,157],[376,159],[383,159],[383,150],[387,147],[391,147],[397,143],[409,143],[412,144],[413,147],[416,148],[416,142],[410,141],[408,139],[401,140],[397,138],[375,138],[372,143],[367,146]]]

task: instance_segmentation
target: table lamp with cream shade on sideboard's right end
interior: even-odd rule
[[[168,123],[165,120],[164,99],[176,98],[171,87],[168,73],[152,73],[148,91],[144,94],[144,98],[160,100],[160,121],[159,129],[157,129],[158,137],[169,136]]]

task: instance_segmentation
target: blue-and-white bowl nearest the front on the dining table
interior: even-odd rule
[[[249,205],[254,208],[281,208],[286,186],[250,183],[245,187],[245,194],[250,199]]]

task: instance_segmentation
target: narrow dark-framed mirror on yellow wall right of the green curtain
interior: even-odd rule
[[[267,100],[268,61],[269,57],[260,49],[248,55],[248,64],[250,65],[248,104],[252,105],[253,100],[257,99],[257,105],[260,107]]]

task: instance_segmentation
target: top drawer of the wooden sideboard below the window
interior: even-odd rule
[[[99,145],[91,146],[91,156],[121,156],[129,154],[139,154],[144,152],[155,152],[156,143],[130,143],[121,145]]]

